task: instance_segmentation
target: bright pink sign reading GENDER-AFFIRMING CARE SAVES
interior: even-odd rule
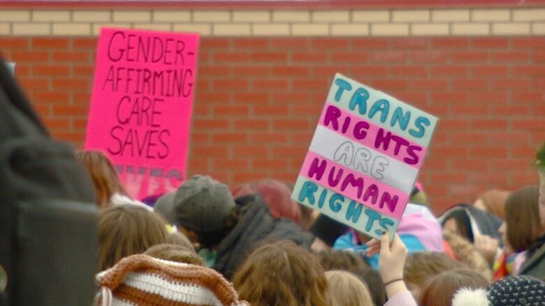
[[[198,39],[101,30],[85,149],[106,153],[138,199],[184,181]]]

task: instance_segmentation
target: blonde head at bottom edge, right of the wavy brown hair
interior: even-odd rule
[[[373,301],[368,287],[361,280],[342,270],[326,272],[329,294],[337,306],[372,306]]]

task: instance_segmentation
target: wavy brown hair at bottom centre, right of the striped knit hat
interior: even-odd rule
[[[258,247],[235,273],[233,284],[252,306],[328,306],[324,268],[292,241]]]

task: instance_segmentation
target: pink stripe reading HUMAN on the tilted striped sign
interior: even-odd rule
[[[335,167],[335,169],[333,169],[333,167]],[[337,164],[337,162],[328,160],[312,151],[308,151],[307,153],[307,157],[305,158],[305,162],[303,162],[303,167],[300,171],[300,176],[305,176],[325,188],[344,194],[350,199],[358,201],[359,203],[368,206],[375,211],[384,213],[384,215],[393,217],[396,220],[400,220],[403,211],[405,211],[407,199],[409,199],[408,194],[405,194],[390,185],[386,185],[371,176],[365,176],[365,174],[361,174],[348,167]],[[354,182],[359,178],[363,180],[363,184],[361,184],[361,195],[358,197],[358,188],[350,182]],[[368,197],[368,193],[372,194],[373,191],[375,191],[376,196]],[[395,197],[397,197],[397,201],[394,200]],[[391,199],[391,201],[388,201],[388,199]]]

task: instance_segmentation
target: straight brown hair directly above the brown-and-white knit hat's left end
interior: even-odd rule
[[[106,270],[132,254],[166,242],[166,222],[144,207],[124,204],[99,213],[99,267]]]

